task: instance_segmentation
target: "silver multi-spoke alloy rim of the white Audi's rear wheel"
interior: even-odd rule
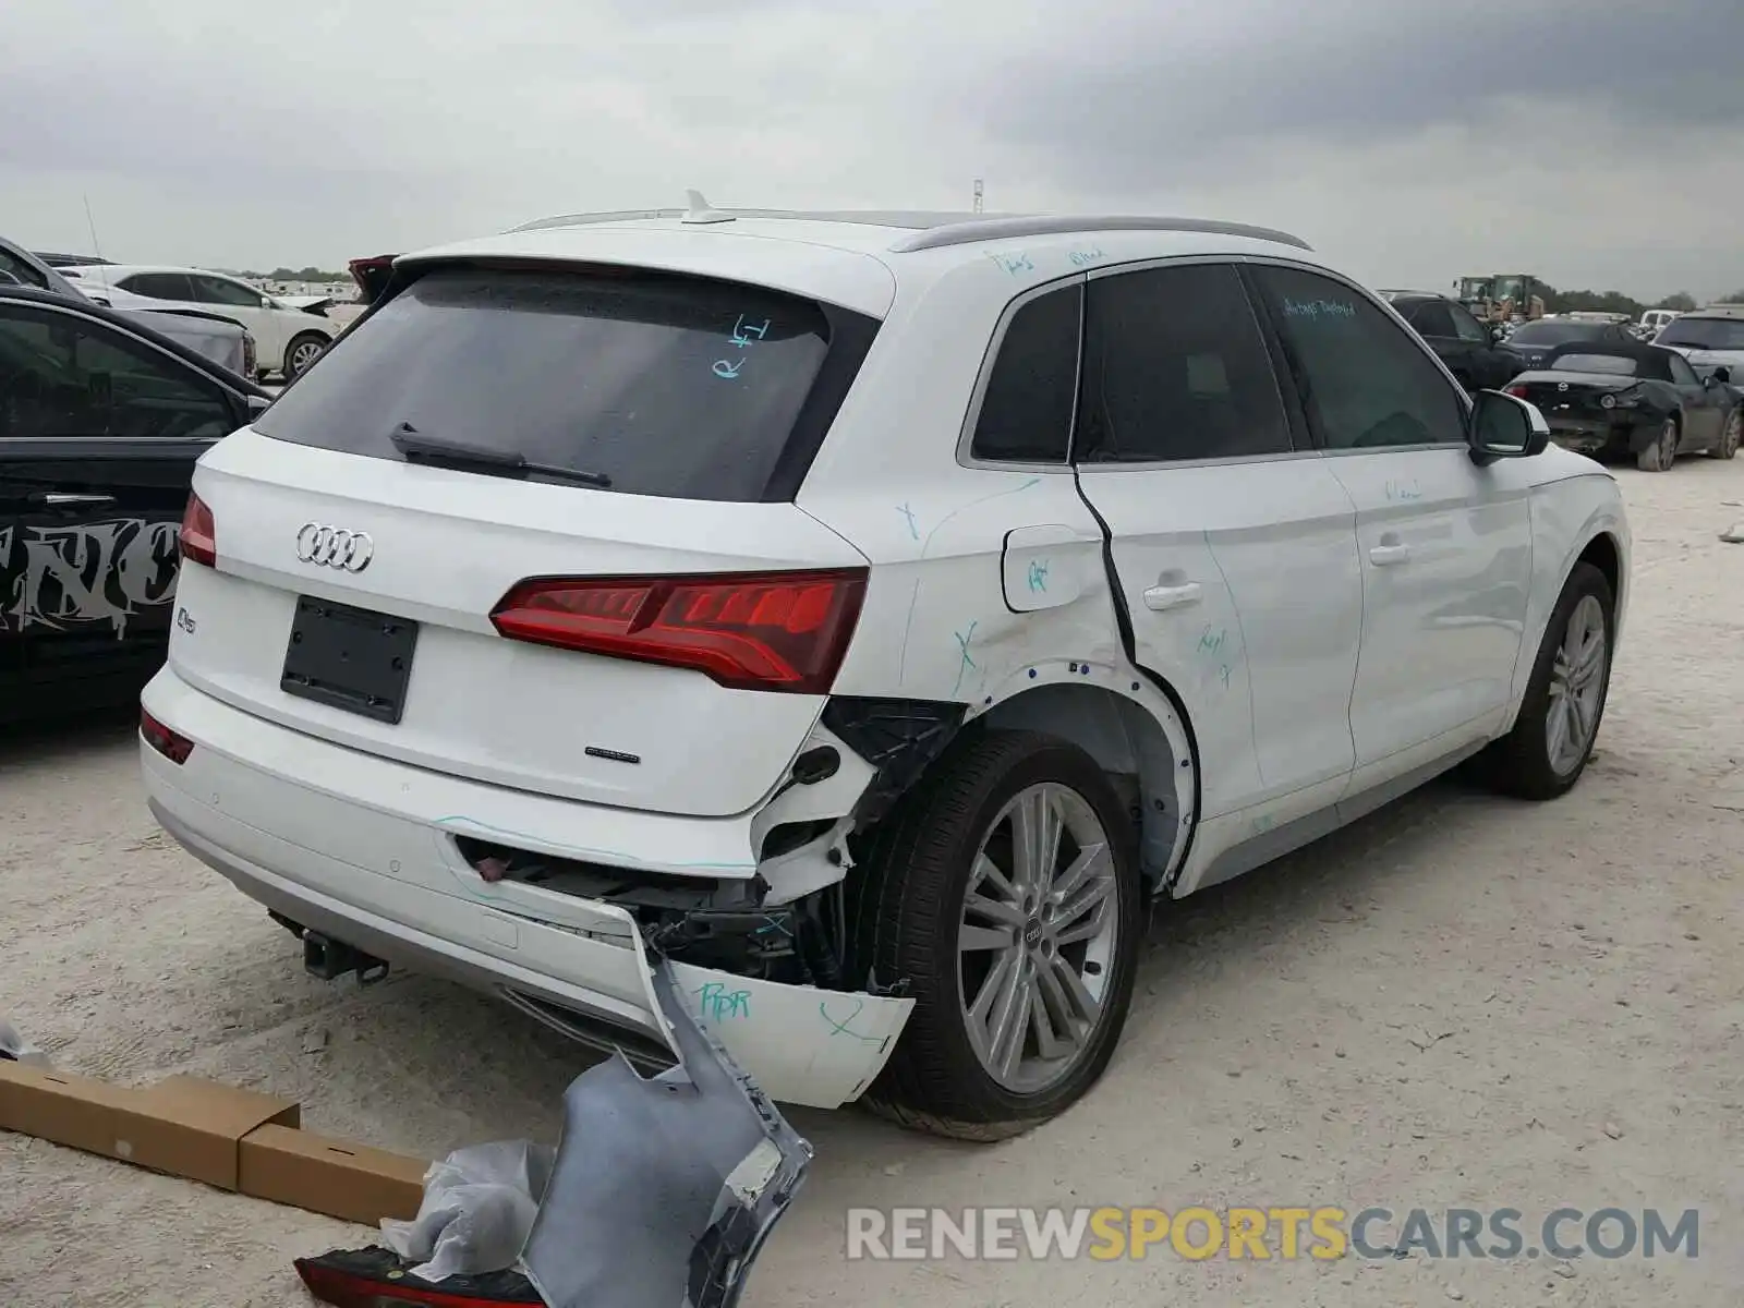
[[[1090,1055],[1123,923],[1114,856],[1071,787],[1020,790],[975,851],[957,926],[957,994],[982,1069],[1038,1093]]]

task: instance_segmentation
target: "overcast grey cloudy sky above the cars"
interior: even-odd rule
[[[1181,213],[1744,286],[1741,0],[16,0],[0,232],[338,267],[680,204]]]

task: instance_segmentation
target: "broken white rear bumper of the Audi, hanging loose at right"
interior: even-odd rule
[[[178,766],[141,743],[152,813],[244,895],[389,963],[497,992],[588,1043],[623,1043],[630,1053],[640,1046],[649,1060],[675,1048],[628,910],[537,886],[488,884],[455,853],[450,823],[429,816],[431,802],[439,809],[452,799],[433,800],[429,787],[488,787],[262,722],[169,670],[146,687],[143,705],[195,745]],[[577,828],[619,818],[584,804],[563,809],[577,842]],[[696,832],[664,839],[703,841]],[[689,964],[671,971],[696,1003],[692,1013],[773,1099],[790,1104],[856,1099],[914,1006]]]

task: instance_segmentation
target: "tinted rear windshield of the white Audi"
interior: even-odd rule
[[[391,436],[410,426],[631,495],[792,499],[874,330],[736,283],[439,269],[340,337],[255,429],[401,459]]]

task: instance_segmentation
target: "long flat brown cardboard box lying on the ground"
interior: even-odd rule
[[[127,1088],[0,1060],[0,1130],[364,1226],[417,1216],[426,1160],[300,1123],[296,1100],[194,1076]]]

